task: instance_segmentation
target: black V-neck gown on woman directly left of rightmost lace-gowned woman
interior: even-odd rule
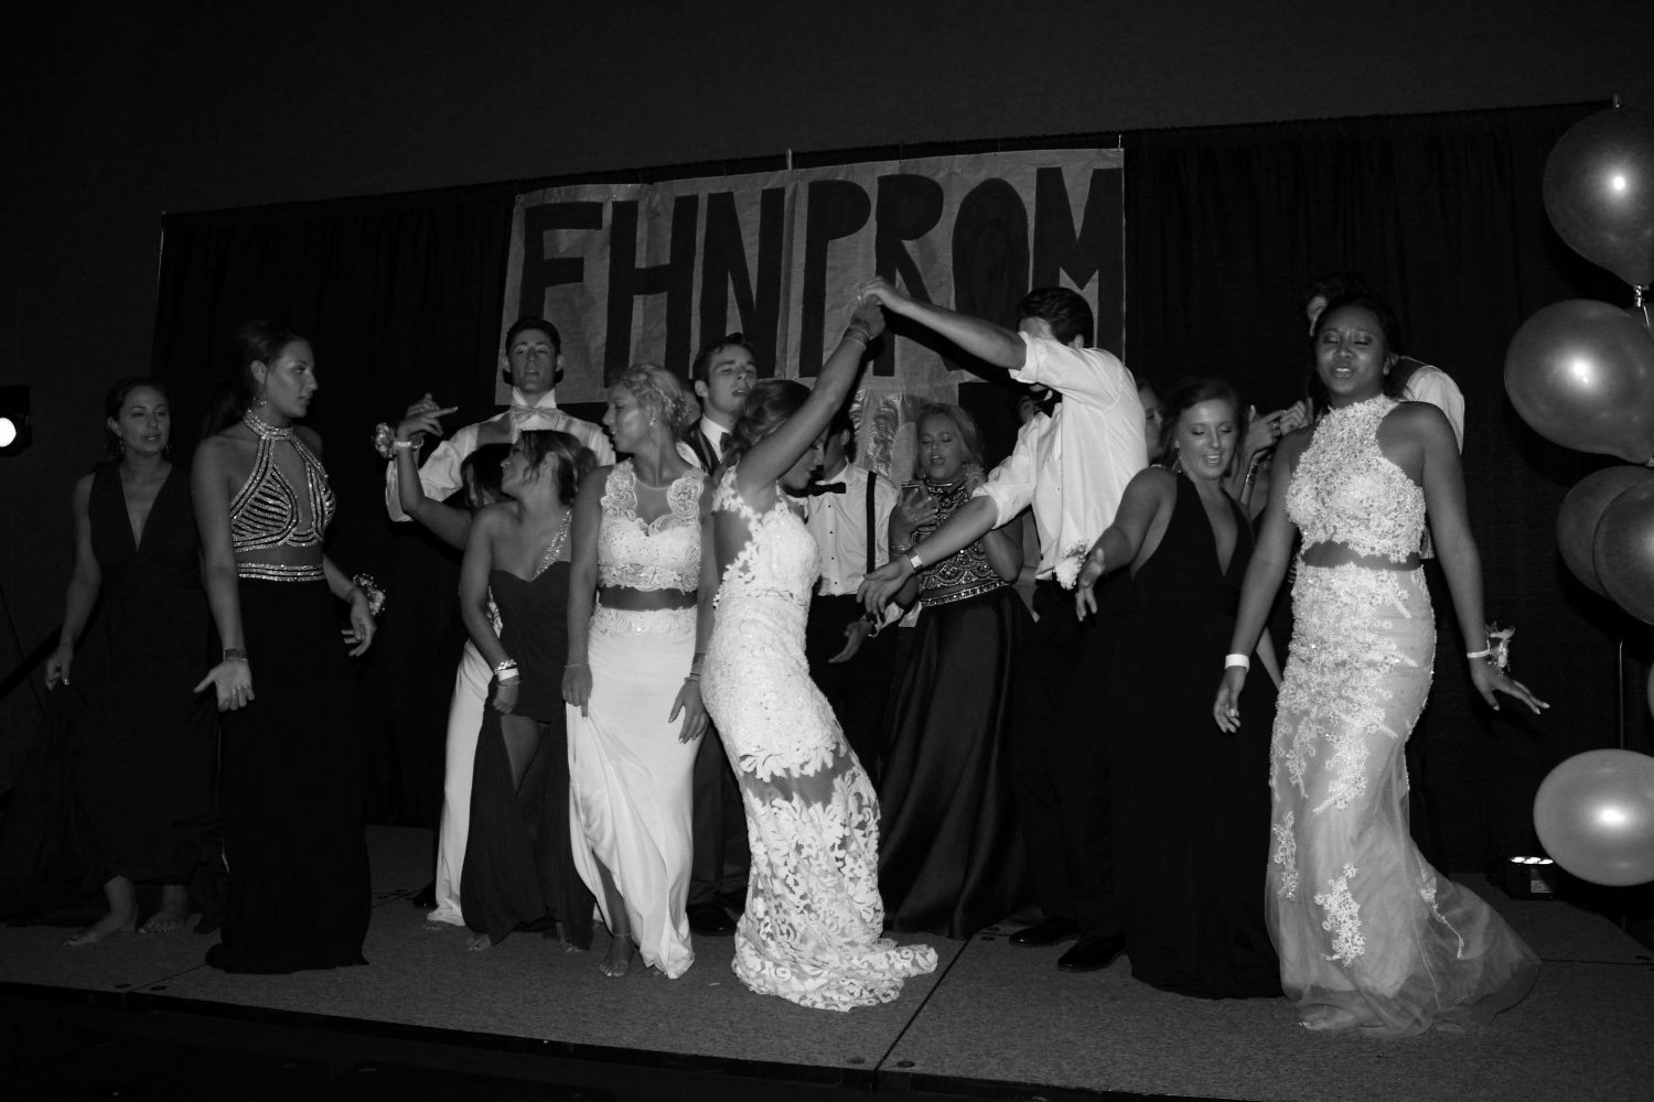
[[[1138,980],[1202,998],[1279,996],[1264,922],[1275,689],[1260,663],[1240,730],[1212,720],[1252,557],[1245,515],[1229,506],[1236,549],[1219,570],[1199,491],[1179,474],[1166,534],[1120,595],[1105,725],[1115,904]]]

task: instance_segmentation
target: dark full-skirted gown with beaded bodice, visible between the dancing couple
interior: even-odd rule
[[[968,491],[944,492],[915,540],[966,501]],[[1030,621],[981,540],[925,575],[971,595],[925,600],[895,691],[878,780],[878,891],[892,930],[969,937],[1032,891],[1011,788],[1012,663]]]

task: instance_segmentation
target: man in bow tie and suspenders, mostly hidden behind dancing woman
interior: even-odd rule
[[[862,613],[857,590],[868,570],[890,562],[896,484],[850,463],[853,449],[855,425],[840,410],[827,428],[822,474],[805,499],[804,524],[820,549],[822,577],[810,596],[804,654],[810,679],[832,704],[844,737],[877,783],[895,671],[895,629],[883,631],[888,616]]]

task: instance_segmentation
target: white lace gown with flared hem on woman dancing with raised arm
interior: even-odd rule
[[[728,471],[713,507],[751,540],[724,572],[701,681],[746,805],[753,872],[733,968],[761,995],[822,1009],[888,1003],[936,950],[882,937],[878,800],[809,676],[815,540],[776,494],[759,515]]]

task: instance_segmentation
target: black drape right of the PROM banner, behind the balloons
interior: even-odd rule
[[[1487,615],[1515,623],[1515,672],[1540,720],[1472,704],[1452,631],[1439,641],[1431,785],[1452,864],[1532,853],[1532,801],[1561,758],[1613,745],[1624,615],[1556,557],[1563,494],[1601,464],[1550,444],[1505,400],[1505,347],[1538,307],[1629,304],[1545,216],[1545,157],[1599,106],[1161,131],[1126,139],[1126,362],[1168,383],[1221,375],[1260,410],[1308,370],[1297,292],[1355,269],[1401,314],[1409,352],[1465,397],[1464,466]],[[1451,616],[1447,618],[1451,620]],[[1214,674],[1216,682],[1216,674]]]

